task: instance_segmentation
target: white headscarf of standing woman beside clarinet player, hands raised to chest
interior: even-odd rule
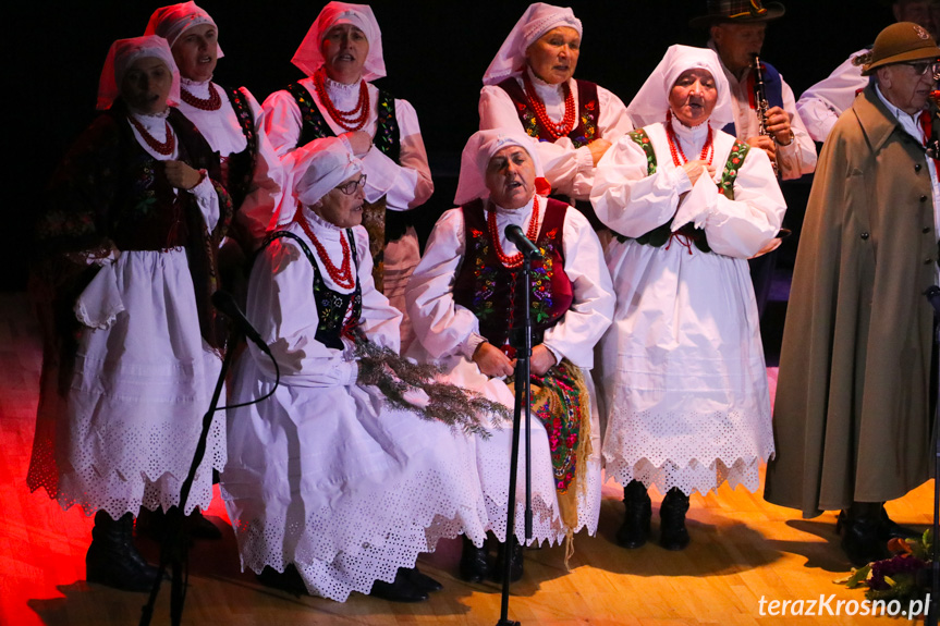
[[[731,87],[715,50],[676,45],[669,47],[662,61],[626,108],[637,127],[666,121],[666,112],[669,111],[669,93],[675,85],[675,81],[686,70],[695,69],[708,70],[715,78],[715,88],[718,90],[718,100],[708,118],[708,123],[712,128],[723,128],[725,124],[734,121]]]

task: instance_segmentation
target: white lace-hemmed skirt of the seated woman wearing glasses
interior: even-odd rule
[[[248,354],[235,402],[271,382]],[[481,543],[487,517],[474,442],[383,406],[375,388],[282,385],[233,409],[222,496],[242,567],[293,563],[312,593],[344,601],[392,581],[440,538]]]

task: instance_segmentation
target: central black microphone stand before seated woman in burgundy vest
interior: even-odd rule
[[[521,626],[520,622],[509,618],[509,585],[510,575],[512,572],[512,542],[515,540],[515,488],[516,474],[518,471],[518,438],[522,415],[525,413],[525,539],[528,542],[532,539],[532,445],[530,441],[530,424],[532,417],[532,380],[530,363],[532,357],[532,294],[530,279],[532,275],[532,257],[538,254],[528,249],[522,249],[522,274],[520,277],[523,291],[523,326],[521,329],[512,330],[514,334],[512,345],[516,349],[515,357],[515,407],[512,418],[512,456],[509,470],[509,506],[506,507],[506,537],[503,559],[502,573],[502,598],[500,601],[500,618],[497,626]]]

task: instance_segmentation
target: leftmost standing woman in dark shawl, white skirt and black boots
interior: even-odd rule
[[[179,504],[221,367],[209,297],[231,205],[218,157],[169,106],[179,85],[164,39],[114,41],[102,113],[53,175],[37,225],[35,293],[54,328],[27,482],[95,514],[88,580],[137,591],[156,568],[134,549],[134,517]],[[216,414],[186,513],[212,500],[224,428]]]

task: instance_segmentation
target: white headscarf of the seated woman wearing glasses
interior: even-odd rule
[[[363,171],[363,162],[338,137],[314,139],[291,152],[291,156],[294,197],[308,207],[353,174]],[[293,201],[282,202],[278,225],[291,222],[296,209]]]

